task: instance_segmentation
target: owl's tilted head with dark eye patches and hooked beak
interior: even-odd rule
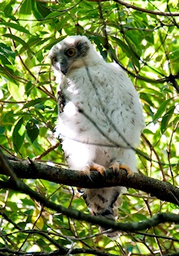
[[[99,63],[99,54],[85,36],[66,37],[54,45],[49,53],[53,68],[64,75],[72,69]]]

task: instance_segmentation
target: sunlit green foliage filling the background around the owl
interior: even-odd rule
[[[60,143],[53,136],[56,83],[47,54],[66,35],[84,34],[104,59],[120,62],[140,94],[146,128],[139,149],[152,160],[139,155],[139,170],[178,185],[177,0],[7,0],[0,2],[0,13],[0,146],[6,154],[64,166]],[[75,187],[44,180],[25,182],[54,203],[88,213]],[[1,189],[0,201],[1,255],[50,253],[58,245],[107,255],[179,252],[178,225],[121,233],[117,241],[110,241],[94,236],[98,227],[43,208],[27,195]],[[179,213],[178,206],[129,189],[123,195],[119,221],[140,222],[161,212]]]

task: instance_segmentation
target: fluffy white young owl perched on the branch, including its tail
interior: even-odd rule
[[[90,170],[104,175],[108,167],[115,172],[124,168],[129,175],[137,172],[134,147],[140,143],[144,120],[126,72],[104,61],[88,38],[79,35],[54,45],[50,59],[58,83],[56,135],[69,167],[84,170],[87,178]],[[115,220],[123,191],[123,187],[83,189],[83,198],[91,214]]]

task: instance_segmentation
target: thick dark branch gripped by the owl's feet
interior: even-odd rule
[[[107,170],[106,176],[101,176],[96,171],[91,171],[92,181],[85,176],[85,172],[79,170],[68,170],[62,167],[52,167],[40,162],[29,160],[19,160],[16,158],[7,158],[9,167],[15,172],[18,178],[42,178],[47,181],[53,181],[58,184],[65,184],[73,187],[99,188],[123,186],[142,190],[160,200],[179,205],[179,189],[166,181],[159,181],[149,178],[139,173],[134,173],[132,178],[126,177],[126,171],[113,173],[113,170]],[[4,173],[0,166],[0,174]],[[100,181],[100,182],[99,182]]]

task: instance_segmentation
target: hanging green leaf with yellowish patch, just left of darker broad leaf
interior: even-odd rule
[[[18,123],[15,124],[15,128],[12,132],[12,142],[16,152],[19,152],[20,147],[23,144],[25,137],[25,127],[23,125],[23,117],[19,119]]]

